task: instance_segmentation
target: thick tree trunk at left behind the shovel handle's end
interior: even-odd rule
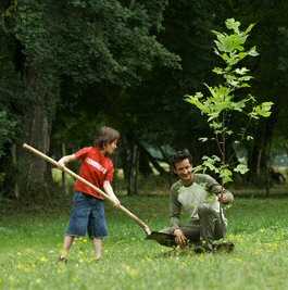
[[[51,86],[54,84],[37,67],[27,67],[24,71],[24,96],[27,103],[23,110],[23,123],[17,149],[16,182],[21,198],[42,198],[48,192],[48,179],[51,179],[50,166],[22,149],[28,143],[45,154],[49,154],[51,124],[54,116],[55,96]],[[49,81],[50,80],[50,81]],[[53,84],[52,84],[53,83]]]

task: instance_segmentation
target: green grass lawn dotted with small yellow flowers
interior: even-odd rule
[[[121,200],[151,230],[168,225],[167,196]],[[146,240],[140,226],[107,204],[104,261],[91,261],[92,243],[78,239],[61,266],[70,203],[4,212],[0,289],[288,289],[288,199],[236,199],[226,216],[235,252],[197,255]]]

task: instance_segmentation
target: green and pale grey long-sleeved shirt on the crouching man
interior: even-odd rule
[[[198,205],[206,203],[213,207],[215,212],[220,212],[220,202],[217,196],[221,193],[221,185],[206,174],[195,174],[193,184],[185,187],[181,180],[176,181],[171,187],[170,193],[170,220],[173,229],[180,227],[181,210],[188,211],[191,220],[198,220]],[[228,199],[228,204],[234,201],[230,191],[224,189],[224,193]]]

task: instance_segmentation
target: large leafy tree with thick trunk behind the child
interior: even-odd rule
[[[165,4],[166,1],[8,1],[3,14],[5,31],[18,46],[14,53],[22,60],[25,100],[20,108],[23,127],[17,142],[49,152],[62,79],[72,83],[71,88],[79,87],[72,109],[77,117],[85,102],[95,106],[97,114],[98,102],[103,98],[101,110],[108,109],[122,89],[141,80],[141,75],[155,64],[176,67],[178,58],[151,33],[160,28]],[[109,96],[111,91],[113,94]],[[68,92],[65,94],[70,98]],[[39,188],[49,181],[48,165],[22,150],[17,160],[22,194],[39,194]],[[41,192],[45,194],[46,190]]]

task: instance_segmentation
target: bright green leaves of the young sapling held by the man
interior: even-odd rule
[[[213,156],[203,156],[203,164],[196,167],[198,169],[211,169],[215,172],[223,180],[223,185],[231,181],[231,156],[227,155],[227,140],[231,139],[229,143],[236,143],[238,150],[239,143],[243,139],[251,139],[247,136],[247,125],[241,126],[234,131],[230,128],[233,118],[238,118],[238,113],[247,117],[246,124],[250,124],[251,119],[258,119],[260,116],[268,117],[271,115],[272,102],[263,102],[256,104],[256,99],[248,93],[245,98],[239,98],[237,92],[239,89],[249,88],[249,81],[252,76],[249,75],[249,70],[241,66],[240,62],[247,56],[258,56],[255,47],[246,48],[247,38],[253,28],[253,24],[249,25],[246,30],[240,30],[240,23],[234,18],[225,22],[229,33],[217,33],[214,52],[224,62],[224,66],[214,67],[213,72],[223,77],[223,84],[218,86],[209,86],[205,84],[209,94],[204,96],[202,92],[196,92],[193,96],[187,96],[186,101],[196,105],[202,114],[206,115],[208,124],[213,130],[215,140],[220,150],[221,156],[214,154]],[[239,66],[240,65],[240,66]],[[208,138],[201,138],[206,141]],[[237,166],[233,165],[235,172],[245,174],[248,168],[243,163]]]

